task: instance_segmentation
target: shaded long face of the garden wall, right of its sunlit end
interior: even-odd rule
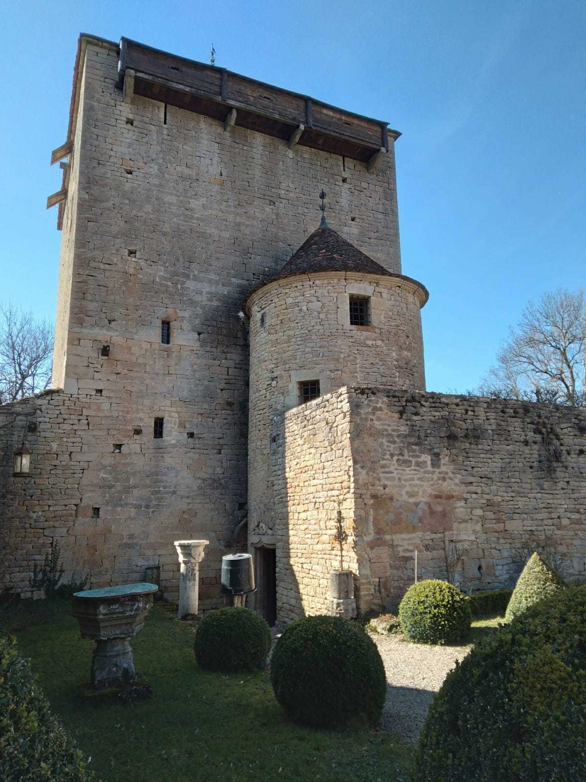
[[[534,550],[584,579],[584,408],[348,395],[362,610],[396,604],[413,583],[415,549],[419,579],[445,579],[456,547],[466,590],[513,586]]]

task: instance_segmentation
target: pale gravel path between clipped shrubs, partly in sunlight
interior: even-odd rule
[[[387,672],[381,729],[417,741],[427,709],[445,676],[472,647],[409,644],[402,636],[381,633],[370,633],[370,637],[381,652]]]

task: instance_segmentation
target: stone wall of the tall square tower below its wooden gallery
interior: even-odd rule
[[[315,228],[322,186],[334,228],[400,271],[393,152],[369,174],[362,163],[224,131],[161,102],[123,101],[117,60],[116,47],[88,39],[63,213],[55,382],[65,393],[50,403],[64,429],[31,446],[31,473],[41,466],[37,448],[76,452],[62,465],[71,496],[57,502],[45,467],[16,479],[7,451],[10,486],[33,488],[22,501],[8,488],[0,526],[17,590],[52,537],[45,522],[65,513],[53,506],[71,514],[58,535],[66,567],[91,571],[92,587],[160,565],[163,591],[177,596],[173,539],[207,538],[200,594],[209,608],[246,514],[248,344],[238,311]],[[34,404],[44,415],[49,403]],[[154,418],[164,418],[161,439]],[[15,524],[27,530],[16,550]]]

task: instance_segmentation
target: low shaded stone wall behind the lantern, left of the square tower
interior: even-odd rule
[[[0,406],[0,591],[40,597],[30,590],[30,578],[53,541],[68,570],[74,569],[81,530],[77,538],[70,530],[88,468],[80,453],[82,431],[87,429],[83,398],[59,391]],[[13,475],[14,451],[23,446],[31,451],[30,472]],[[103,522],[85,523],[84,549],[105,534]]]

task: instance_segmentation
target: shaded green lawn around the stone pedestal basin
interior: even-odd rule
[[[155,605],[131,644],[153,695],[137,704],[81,707],[94,642],[80,638],[70,604],[0,609],[53,710],[104,782],[377,782],[412,780],[413,745],[375,730],[321,731],[289,723],[266,671],[198,668],[193,630]]]

